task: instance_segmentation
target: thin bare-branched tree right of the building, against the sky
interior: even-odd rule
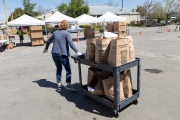
[[[146,22],[145,24],[147,25],[147,18],[148,18],[148,15],[149,13],[153,10],[153,8],[155,7],[156,3],[153,2],[153,1],[149,1],[149,0],[146,0],[144,2],[144,10],[145,10],[145,17],[146,17]]]

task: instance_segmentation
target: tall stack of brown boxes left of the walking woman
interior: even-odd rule
[[[44,45],[42,26],[31,26],[30,27],[30,39],[31,39],[32,46]]]

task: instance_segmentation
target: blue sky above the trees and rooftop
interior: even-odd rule
[[[11,11],[14,10],[14,8],[17,8],[17,7],[23,8],[22,1],[23,0],[5,0],[8,15],[10,14]],[[65,1],[68,3],[70,0],[31,0],[31,3],[36,3],[36,6],[41,5],[44,8],[54,9],[57,5],[62,3],[62,1]],[[109,0],[86,0],[86,1],[88,1],[89,5],[103,5]],[[114,1],[116,3],[119,2],[119,7],[122,6],[121,0],[114,0]],[[145,0],[124,0],[124,8],[127,8],[127,9],[136,8],[137,5],[143,5],[144,1]],[[156,1],[160,1],[160,0],[156,0]],[[3,4],[1,0],[0,1],[0,22],[2,22],[3,20],[5,20],[5,14],[4,14]]]

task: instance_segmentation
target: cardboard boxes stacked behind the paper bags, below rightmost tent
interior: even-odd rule
[[[126,36],[126,23],[124,22],[108,23],[107,27],[108,32],[114,32],[119,37]]]

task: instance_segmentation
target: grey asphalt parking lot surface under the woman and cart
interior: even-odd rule
[[[56,91],[55,65],[51,48],[24,46],[0,52],[0,120],[179,120],[180,32],[158,32],[158,27],[129,28],[136,57],[141,58],[141,93],[138,105],[130,105],[115,118],[112,110],[93,99],[85,100],[79,88],[78,65],[71,60],[72,83],[77,93]],[[140,34],[140,31],[142,34]],[[76,34],[72,34],[75,39]],[[83,38],[81,33],[80,38]],[[80,52],[86,42],[74,41]],[[74,51],[71,51],[74,55]],[[88,66],[82,65],[83,83]],[[62,73],[65,85],[65,71]],[[136,69],[132,69],[136,87]]]

